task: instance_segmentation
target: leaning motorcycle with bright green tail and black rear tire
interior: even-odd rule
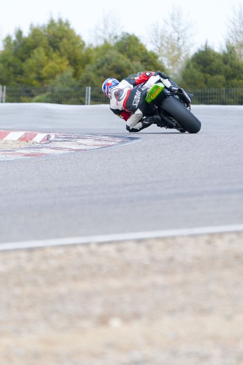
[[[161,128],[174,128],[180,133],[198,133],[201,122],[191,113],[193,96],[184,89],[169,91],[162,82],[156,83],[147,92],[148,115],[158,115],[161,121],[157,126]]]

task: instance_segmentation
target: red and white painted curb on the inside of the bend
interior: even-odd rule
[[[0,131],[0,140],[1,139],[25,142],[33,141],[38,143],[15,149],[0,149],[0,161],[89,151],[90,149],[112,147],[129,143],[133,140],[133,138],[117,136],[12,131]]]

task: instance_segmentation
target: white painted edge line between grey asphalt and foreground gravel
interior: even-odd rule
[[[125,240],[144,240],[151,238],[175,237],[180,235],[226,233],[226,232],[239,232],[239,231],[243,231],[243,224],[214,226],[214,227],[212,226],[212,227],[183,228],[183,229],[147,231],[147,232],[131,232],[131,233],[120,233],[120,234],[104,234],[104,235],[93,235],[87,237],[69,237],[69,238],[50,239],[50,240],[7,242],[2,244],[0,243],[0,251],[37,248],[37,247],[68,246],[68,245],[89,244],[89,243],[106,243],[106,242],[125,241]]]

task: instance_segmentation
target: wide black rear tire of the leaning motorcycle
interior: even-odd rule
[[[200,131],[201,122],[175,98],[166,98],[161,106],[167,113],[176,119],[188,133],[197,133]]]

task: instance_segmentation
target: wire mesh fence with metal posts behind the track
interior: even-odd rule
[[[195,89],[193,104],[243,105],[243,88],[238,89]],[[33,88],[23,86],[1,86],[1,103],[46,102],[55,104],[92,105],[108,104],[109,99],[101,88]]]

